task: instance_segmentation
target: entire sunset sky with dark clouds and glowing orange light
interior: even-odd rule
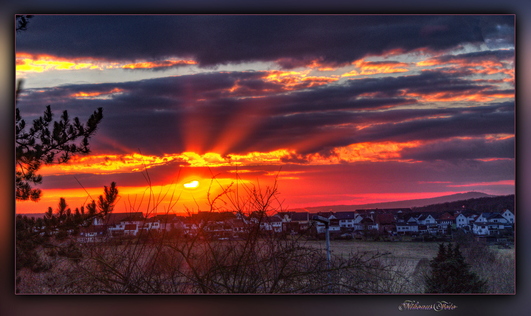
[[[514,25],[513,15],[37,15],[16,35],[23,118],[51,105],[56,120],[66,109],[87,121],[98,107],[104,119],[90,155],[42,167],[41,201],[16,211],[59,197],[79,207],[85,190],[96,198],[115,181],[116,210],[145,212],[144,166],[159,212],[206,209],[212,175],[228,185],[236,172],[261,187],[278,175],[284,208],[513,194]]]

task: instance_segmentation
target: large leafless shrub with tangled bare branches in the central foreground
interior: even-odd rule
[[[332,255],[328,266],[324,249],[264,232],[267,215],[282,210],[277,183],[243,189],[245,197],[237,197],[232,185],[207,197],[218,217],[230,213],[250,219],[237,238],[214,238],[209,227],[216,219],[203,217],[193,223],[193,233],[140,235],[123,245],[80,244],[76,260],[62,258],[64,263],[50,272],[55,283],[41,284],[49,293],[415,292],[412,267],[387,252]],[[148,214],[160,207],[155,196],[150,193]]]

